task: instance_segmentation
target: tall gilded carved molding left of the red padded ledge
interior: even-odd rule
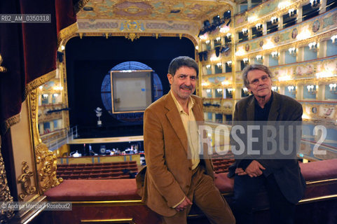
[[[29,109],[31,111],[32,132],[34,141],[34,153],[36,169],[39,176],[39,192],[43,194],[49,188],[58,186],[63,179],[56,177],[57,158],[52,151],[48,150],[46,144],[43,144],[38,128],[38,89],[29,93]]]

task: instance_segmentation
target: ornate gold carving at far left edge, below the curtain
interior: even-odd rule
[[[0,202],[13,202],[11,191],[8,188],[5,164],[1,154],[1,138],[0,138],[0,190],[1,190]],[[6,220],[14,216],[13,209],[6,209],[6,211],[1,209],[0,212],[1,212],[0,223],[6,222]]]

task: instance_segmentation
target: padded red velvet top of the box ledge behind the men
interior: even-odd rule
[[[300,167],[307,182],[337,179],[337,159],[301,163]],[[234,180],[229,179],[227,173],[216,174],[215,185],[221,193],[231,193]],[[324,183],[319,184],[322,185]],[[52,201],[140,199],[136,193],[135,179],[64,180],[60,186],[48,190],[46,196]]]

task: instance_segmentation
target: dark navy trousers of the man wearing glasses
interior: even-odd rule
[[[273,174],[269,176],[250,177],[248,175],[235,175],[233,213],[238,224],[254,223],[252,207],[256,195],[265,186],[270,204],[270,223],[294,223],[295,204],[289,202],[282,194]],[[289,189],[291,190],[291,189]]]

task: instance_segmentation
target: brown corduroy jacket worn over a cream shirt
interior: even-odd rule
[[[192,97],[195,120],[203,121],[202,99]],[[137,193],[156,213],[174,216],[177,211],[172,207],[187,195],[190,188],[192,164],[188,160],[184,125],[170,92],[144,113],[144,151],[146,167],[136,177]],[[200,164],[214,178],[212,161],[200,159]]]

